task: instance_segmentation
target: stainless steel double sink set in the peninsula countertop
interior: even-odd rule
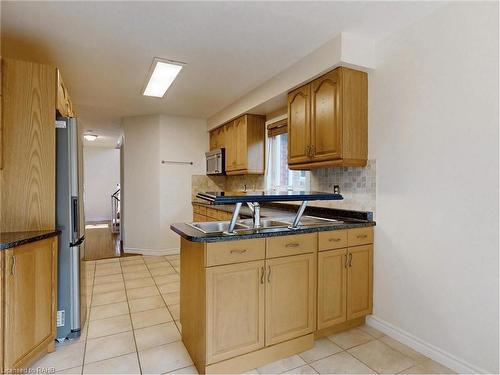
[[[261,218],[260,227],[254,228],[252,219],[244,219],[236,223],[236,226],[234,227],[234,232],[238,234],[238,233],[248,233],[250,231],[265,231],[266,229],[289,228],[292,225],[292,222],[293,222],[293,217]],[[340,224],[342,223],[342,221],[335,219],[325,219],[322,217],[315,217],[315,216],[302,216],[302,218],[299,221],[299,228],[332,225],[334,223]],[[217,233],[227,232],[229,228],[229,221],[188,223],[188,225],[205,234],[217,234]]]

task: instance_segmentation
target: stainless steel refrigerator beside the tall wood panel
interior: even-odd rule
[[[86,319],[82,140],[76,118],[56,121],[56,221],[59,237],[57,340],[80,336]]]

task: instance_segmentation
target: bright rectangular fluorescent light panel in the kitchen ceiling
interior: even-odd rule
[[[162,98],[182,69],[183,63],[154,59],[152,71],[142,95]]]

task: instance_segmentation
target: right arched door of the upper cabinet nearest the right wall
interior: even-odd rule
[[[342,157],[340,77],[336,69],[311,84],[311,154],[314,161]]]

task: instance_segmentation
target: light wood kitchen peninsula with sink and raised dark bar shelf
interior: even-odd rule
[[[200,373],[244,372],[364,324],[372,311],[369,213],[311,216],[305,202],[342,199],[330,193],[198,197],[236,204],[230,221],[171,226],[181,236],[182,340]],[[296,214],[260,215],[261,202],[287,200],[302,202]],[[243,203],[253,217],[237,220]]]

